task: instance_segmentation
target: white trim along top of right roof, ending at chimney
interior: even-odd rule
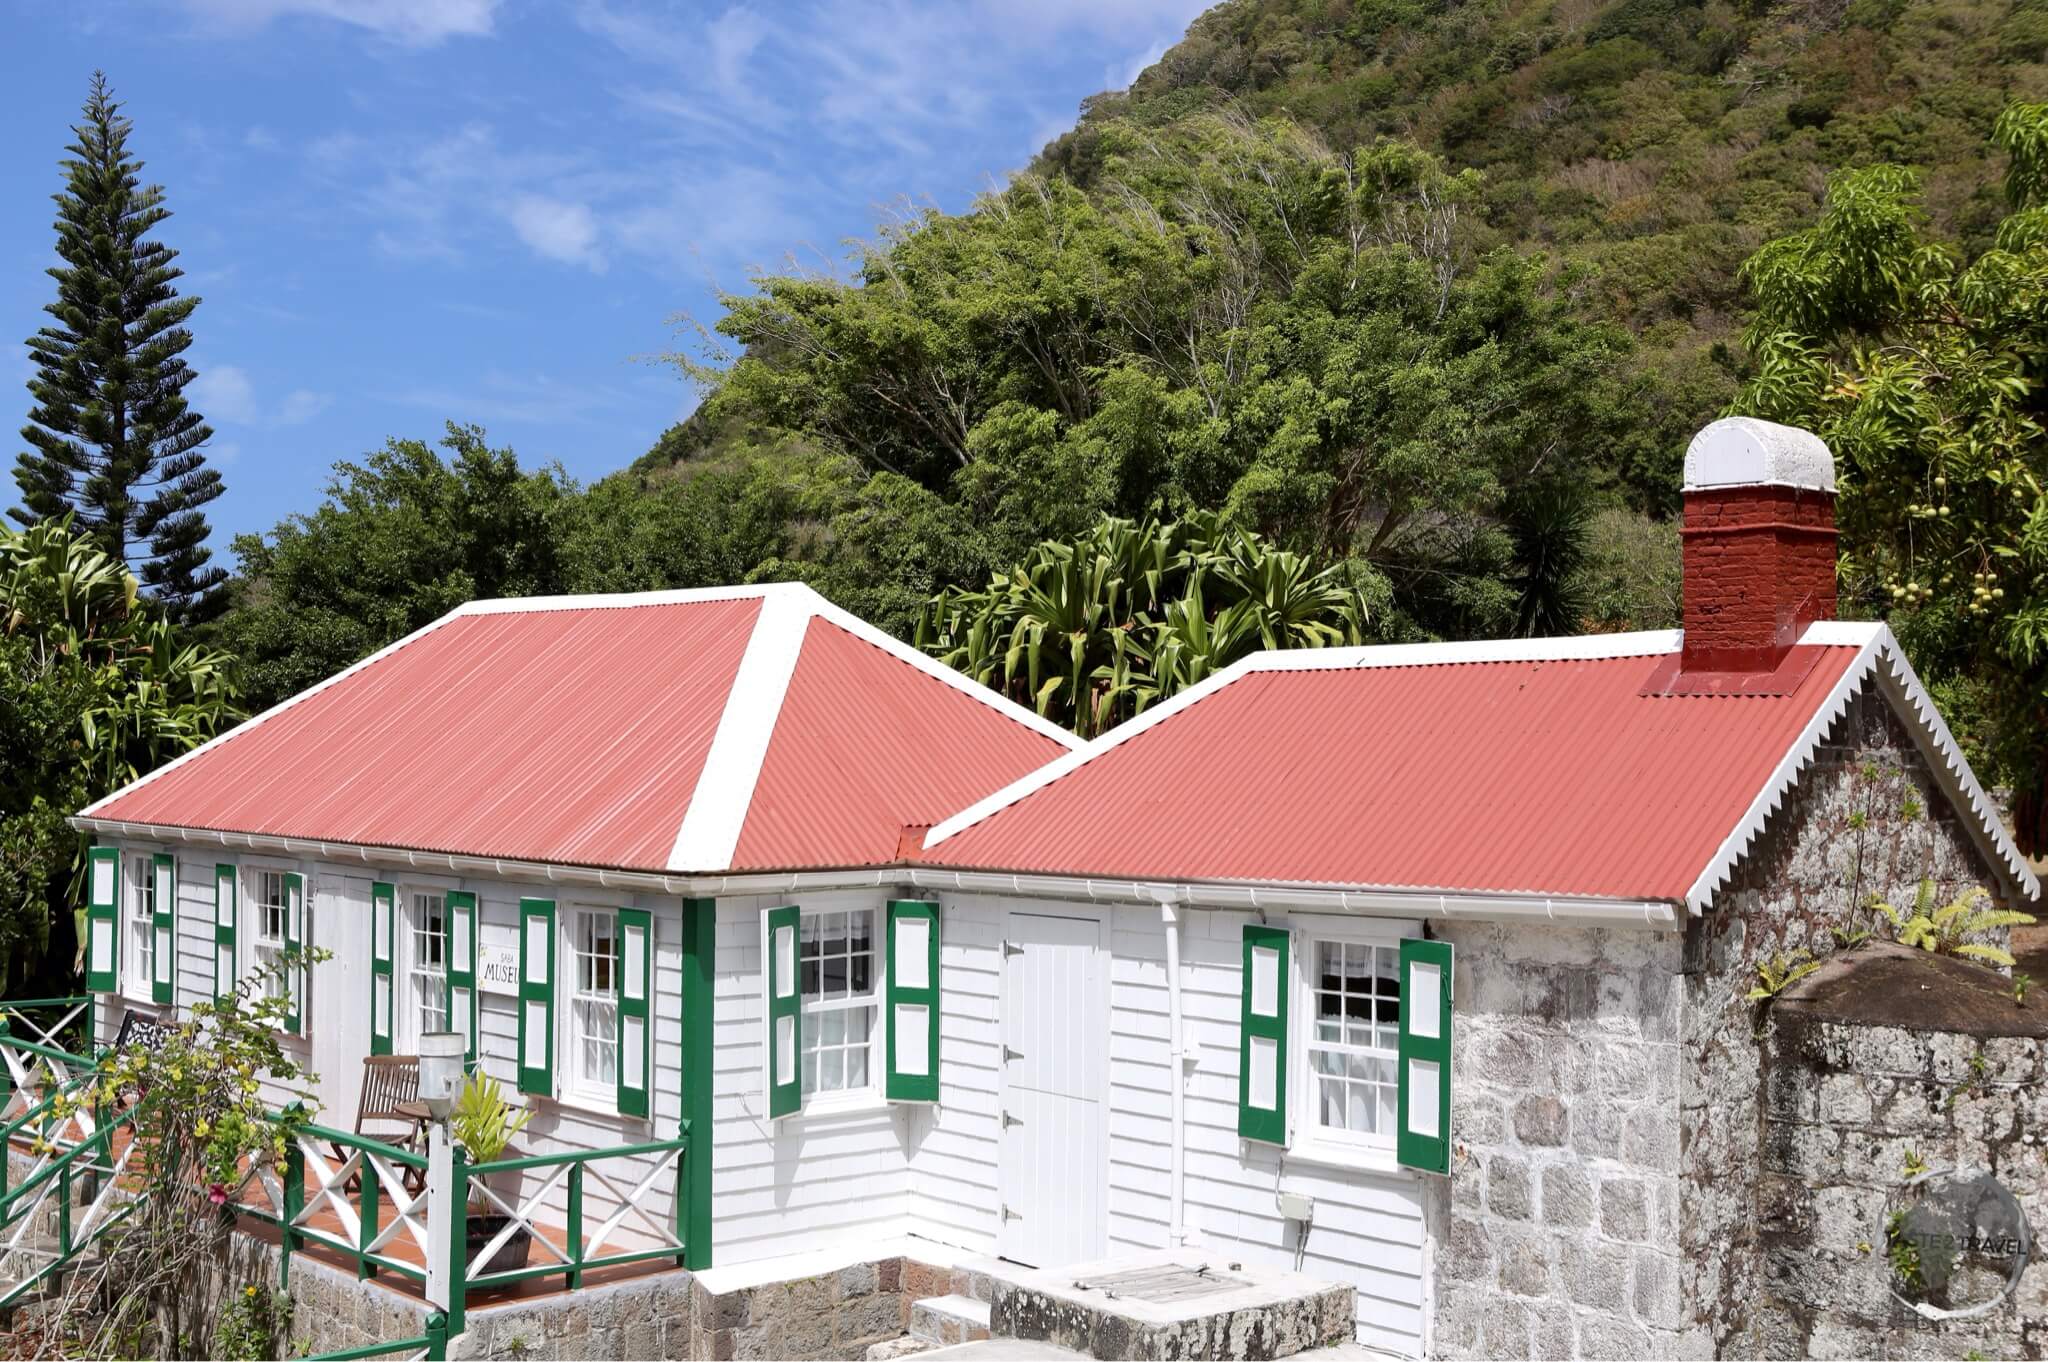
[[[995,791],[987,799],[961,809],[944,823],[932,827],[924,838],[924,848],[932,850],[946,838],[973,827],[997,809],[1006,809],[1026,795],[1042,791],[1061,776],[1096,760],[1110,748],[1128,741],[1145,729],[1171,719],[1190,705],[1200,705],[1231,682],[1251,672],[1339,672],[1346,668],[1436,668],[1470,662],[1593,662],[1602,657],[1653,657],[1675,653],[1683,643],[1677,629],[1651,629],[1645,633],[1587,633],[1567,639],[1479,639],[1470,643],[1382,643],[1376,647],[1296,647],[1288,651],[1251,653],[1233,662],[1198,686],[1190,686],[1161,705],[1153,705],[1135,719],[1126,719],[1096,741],[1075,752],[1047,762],[1038,770],[1020,776],[1016,782]]]

